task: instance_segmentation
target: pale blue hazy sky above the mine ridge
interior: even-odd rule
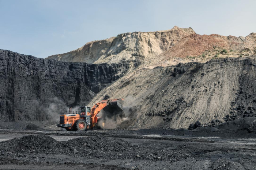
[[[256,32],[256,0],[0,0],[0,49],[45,58],[119,33]]]

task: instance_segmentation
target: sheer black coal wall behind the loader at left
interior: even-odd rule
[[[87,105],[129,67],[130,62],[68,63],[0,50],[1,121],[51,119],[47,108],[56,98],[69,107]]]

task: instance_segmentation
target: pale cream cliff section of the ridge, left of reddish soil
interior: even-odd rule
[[[132,32],[106,40],[86,43],[77,50],[49,56],[65,62],[118,63],[121,60],[148,61],[168,50],[183,36],[195,33],[192,28],[174,27],[166,31]]]

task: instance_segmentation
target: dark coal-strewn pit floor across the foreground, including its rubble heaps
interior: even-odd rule
[[[236,170],[256,167],[256,138],[225,138],[218,137],[218,133],[1,129],[0,139],[0,169]]]

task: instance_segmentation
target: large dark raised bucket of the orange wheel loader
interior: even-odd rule
[[[125,114],[123,111],[123,100],[110,100],[108,102],[108,106],[104,107],[102,112],[103,118],[114,118],[116,119],[118,116],[120,118],[124,118]]]

